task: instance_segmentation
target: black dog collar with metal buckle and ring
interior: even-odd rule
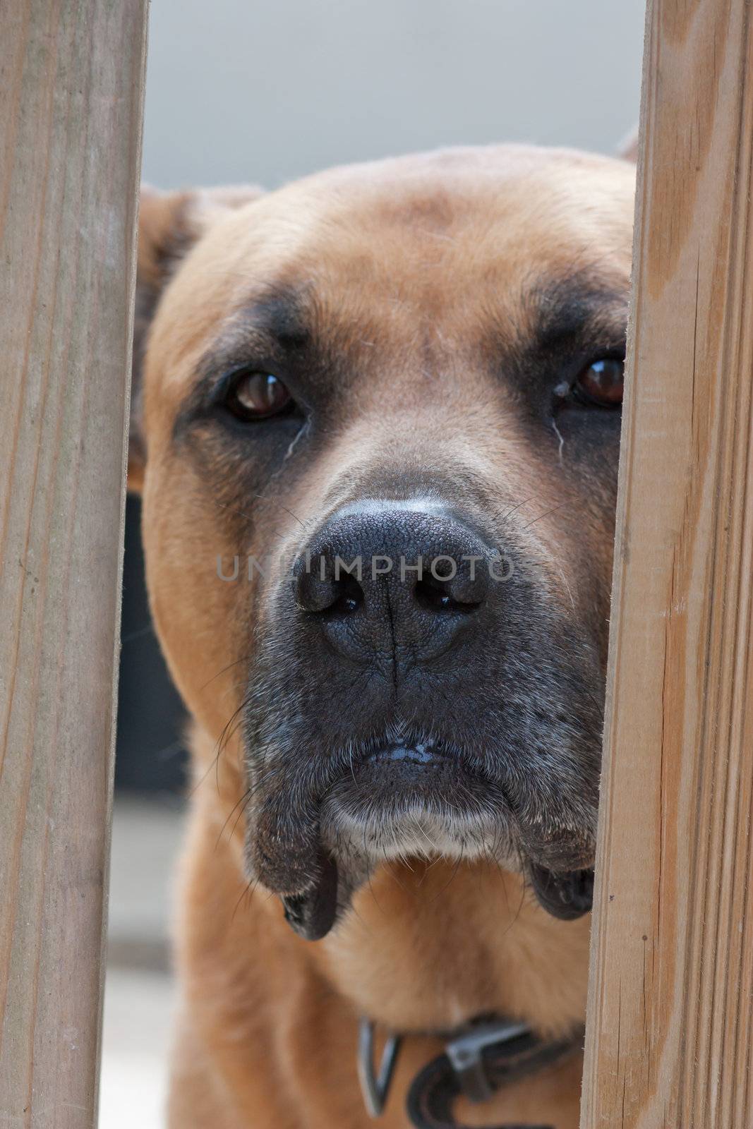
[[[525,1023],[498,1016],[473,1021],[452,1032],[445,1050],[419,1071],[408,1092],[406,1111],[414,1129],[462,1129],[453,1117],[455,1099],[465,1094],[484,1102],[496,1091],[546,1066],[583,1045],[583,1029],[569,1039],[545,1042]],[[374,1023],[361,1019],[358,1075],[366,1109],[373,1118],[383,1112],[397,1062],[400,1035],[389,1035],[378,1070],[374,1065]],[[552,1129],[551,1126],[498,1126],[496,1129]]]

